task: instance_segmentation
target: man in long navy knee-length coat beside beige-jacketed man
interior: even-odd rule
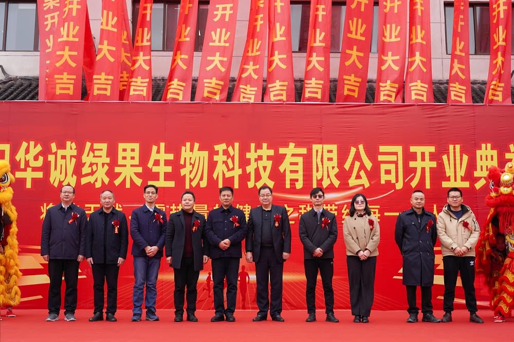
[[[424,322],[438,323],[432,307],[434,284],[434,244],[437,241],[435,215],[425,211],[425,194],[415,190],[411,195],[412,207],[398,215],[394,239],[403,257],[403,284],[409,304],[408,323],[418,321],[416,286],[421,287],[421,312]]]

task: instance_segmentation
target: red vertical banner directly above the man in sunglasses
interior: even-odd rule
[[[328,102],[332,0],[310,2],[302,102]]]

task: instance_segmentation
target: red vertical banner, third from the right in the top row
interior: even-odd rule
[[[409,53],[405,75],[406,103],[433,103],[430,1],[409,2]]]

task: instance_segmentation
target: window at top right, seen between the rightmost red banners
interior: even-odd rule
[[[514,7],[512,8],[514,14]],[[451,54],[453,39],[453,3],[445,4],[446,53]],[[512,22],[514,29],[514,21]],[[489,4],[469,4],[469,53],[489,54],[491,34],[489,25]],[[514,44],[514,35],[511,35]]]

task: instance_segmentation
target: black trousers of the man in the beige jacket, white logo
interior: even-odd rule
[[[443,257],[445,295],[443,299],[443,310],[453,311],[453,300],[455,299],[455,286],[457,285],[457,275],[461,274],[466,308],[470,313],[478,311],[476,309],[475,296],[475,257],[458,257],[448,255]]]

